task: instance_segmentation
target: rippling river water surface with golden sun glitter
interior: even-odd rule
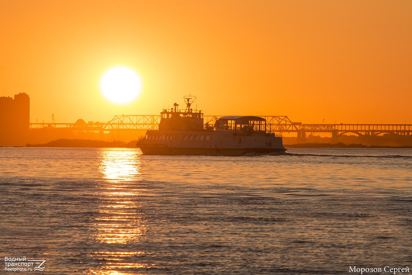
[[[37,274],[411,266],[411,164],[411,149],[0,148],[0,256],[46,260]]]

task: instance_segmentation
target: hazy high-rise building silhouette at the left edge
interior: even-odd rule
[[[26,93],[0,97],[0,145],[24,145],[30,128],[30,97]]]

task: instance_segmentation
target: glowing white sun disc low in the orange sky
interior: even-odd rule
[[[135,71],[125,66],[109,68],[100,78],[104,96],[115,103],[127,103],[135,99],[142,88],[142,81]]]

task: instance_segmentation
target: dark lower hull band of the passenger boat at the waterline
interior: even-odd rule
[[[241,156],[248,153],[284,153],[284,148],[176,148],[139,146],[144,155],[223,155]]]

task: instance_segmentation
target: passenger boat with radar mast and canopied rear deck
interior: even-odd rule
[[[147,130],[136,146],[144,155],[245,155],[283,153],[282,136],[267,132],[257,116],[225,116],[214,125],[204,123],[201,110],[192,110],[194,96],[185,96],[186,109],[174,103],[161,114],[159,129]]]

